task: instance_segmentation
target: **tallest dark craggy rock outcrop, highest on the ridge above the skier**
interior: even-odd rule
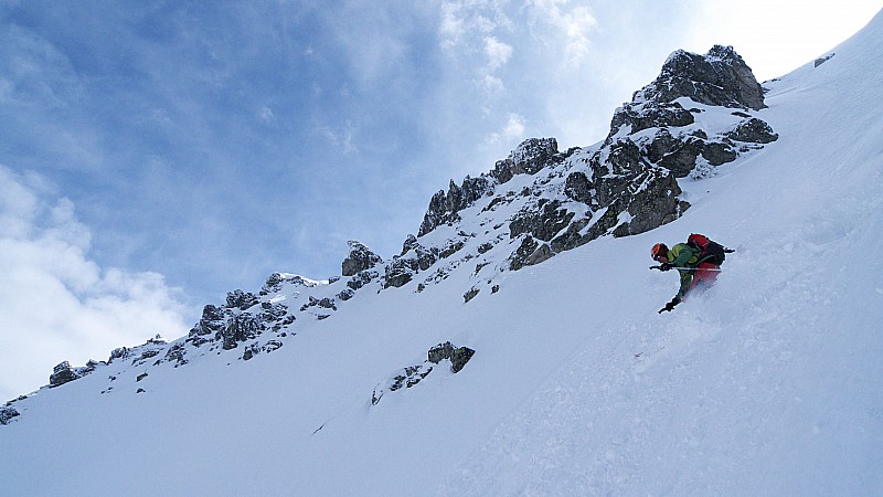
[[[730,113],[734,124],[700,128],[695,116],[710,107],[738,109]],[[690,207],[675,178],[713,175],[714,167],[778,138],[751,114],[764,107],[763,88],[732,47],[673,53],[659,77],[616,110],[608,137],[581,159],[585,166],[570,168],[563,193],[585,209],[541,195],[515,214],[510,236],[523,239],[510,267],[540,263],[598,236],[642,233],[673,221]]]

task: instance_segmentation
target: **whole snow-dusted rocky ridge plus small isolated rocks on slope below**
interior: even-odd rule
[[[257,294],[237,289],[223,304],[206,305],[185,337],[167,342],[157,336],[85,367],[62,362],[46,388],[102,372],[108,379],[102,393],[120,384],[145,393],[151,368],[216,355],[251,360],[288,343],[299,322],[329,318],[361,294],[425,292],[464,265],[472,282],[464,300],[492,295],[504,272],[600,236],[642,233],[675,220],[690,207],[679,181],[713,176],[778,138],[760,118],[764,107],[763,88],[732,47],[716,45],[705,55],[678,51],[657,80],[615,112],[603,141],[560,151],[554,138],[531,138],[489,172],[460,184],[451,180],[430,199],[417,235],[408,235],[392,258],[352,241],[341,276],[312,281],[274,273]],[[462,351],[475,352],[447,346],[439,347],[451,362]],[[424,364],[381,382],[373,399],[397,390],[398,377],[405,387],[419,382],[438,362],[432,353]],[[0,422],[18,416],[13,404],[23,399],[3,405]]]

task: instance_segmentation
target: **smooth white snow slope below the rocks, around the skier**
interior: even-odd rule
[[[883,14],[832,52],[765,84],[779,140],[684,180],[678,221],[469,303],[471,267],[353,298],[260,360],[41,391],[0,426],[0,494],[883,494]],[[649,248],[690,232],[738,252],[658,315]],[[371,404],[447,340],[462,371]]]

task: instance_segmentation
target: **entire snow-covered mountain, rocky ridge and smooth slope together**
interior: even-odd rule
[[[675,52],[603,141],[451,181],[401,254],[60,364],[0,408],[0,493],[881,494],[881,67],[883,14],[763,86]],[[659,315],[650,246],[691,232],[737,251]]]

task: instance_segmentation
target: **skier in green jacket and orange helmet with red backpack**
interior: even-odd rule
[[[721,263],[723,263],[723,253],[721,256],[709,253],[706,248],[693,242],[693,236],[690,236],[688,243],[679,243],[669,248],[664,243],[657,243],[653,245],[651,255],[653,261],[660,263],[659,266],[652,266],[659,271],[678,269],[681,276],[681,287],[678,289],[678,295],[666,304],[666,307],[659,309],[659,314],[674,309],[674,306],[681,303],[687,295],[695,288],[708,288],[714,285],[717,279],[717,273],[721,271]],[[709,245],[709,240],[705,239],[704,245]],[[711,242],[714,243],[714,242]],[[720,246],[720,245],[719,245]],[[721,247],[723,252],[732,252],[730,248]]]

